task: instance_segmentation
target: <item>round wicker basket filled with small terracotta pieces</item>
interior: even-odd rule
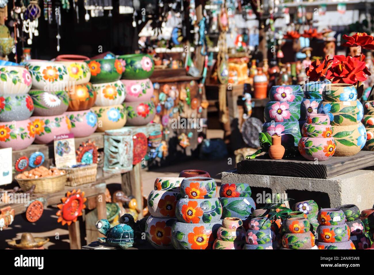
[[[53,177],[30,178],[27,180],[18,177],[19,175],[17,175],[15,179],[24,192],[30,190],[31,187],[35,185],[34,193],[55,193],[64,190],[66,182],[66,173]]]

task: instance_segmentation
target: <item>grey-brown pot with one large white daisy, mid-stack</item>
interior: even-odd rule
[[[69,107],[67,91],[30,90],[29,95],[34,103],[34,116],[58,116]]]

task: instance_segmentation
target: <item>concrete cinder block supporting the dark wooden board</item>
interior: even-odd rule
[[[356,170],[319,179],[237,174],[236,169],[231,169],[222,172],[222,183],[248,183],[251,187],[270,188],[272,193],[286,193],[286,190],[323,192],[329,197],[330,207],[355,204],[364,210],[372,208],[374,203],[374,171],[371,170]]]

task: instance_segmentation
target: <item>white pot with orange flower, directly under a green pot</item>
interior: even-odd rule
[[[96,106],[113,106],[121,104],[126,97],[125,86],[120,80],[92,85],[96,92]]]

